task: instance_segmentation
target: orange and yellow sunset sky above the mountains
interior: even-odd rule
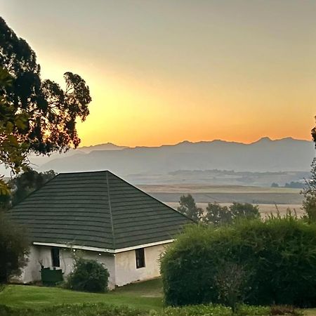
[[[1,16],[42,77],[91,88],[81,145],[310,139],[315,1],[18,1]]]

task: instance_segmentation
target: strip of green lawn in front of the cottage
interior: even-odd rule
[[[161,279],[127,285],[106,294],[69,291],[57,287],[9,285],[0,293],[0,304],[15,308],[41,308],[64,303],[108,303],[143,310],[161,310],[161,289]]]

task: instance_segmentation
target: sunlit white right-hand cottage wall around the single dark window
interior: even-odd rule
[[[145,267],[136,268],[135,250],[124,251],[115,254],[115,283],[121,287],[136,281],[144,281],[159,277],[159,256],[164,252],[168,244],[145,248]]]

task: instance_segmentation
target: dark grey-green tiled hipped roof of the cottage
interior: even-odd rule
[[[60,173],[8,215],[33,242],[105,249],[161,242],[192,223],[110,171]]]

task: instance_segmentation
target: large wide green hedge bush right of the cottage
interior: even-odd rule
[[[315,224],[287,216],[187,228],[162,257],[166,304],[227,304],[216,279],[228,265],[246,272],[239,303],[316,305]]]

